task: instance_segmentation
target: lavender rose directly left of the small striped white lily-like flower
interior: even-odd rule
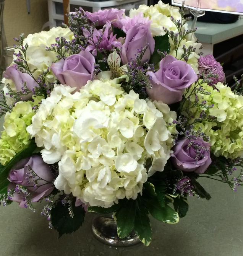
[[[87,51],[59,60],[51,66],[52,72],[63,85],[76,87],[75,91],[86,85],[94,73],[94,56]]]

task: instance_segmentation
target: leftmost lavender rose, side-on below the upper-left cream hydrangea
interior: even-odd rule
[[[27,73],[22,73],[17,69],[17,65],[12,65],[6,69],[6,71],[3,73],[3,77],[7,79],[11,79],[13,83],[15,84],[17,91],[23,91],[23,84],[26,83],[27,88],[29,91],[32,91],[34,89],[34,86],[37,85],[34,78],[31,77],[31,75]],[[31,99],[32,92],[28,93],[28,95],[21,95],[21,99],[27,100]]]

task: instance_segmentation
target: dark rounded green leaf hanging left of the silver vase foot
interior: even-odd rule
[[[76,231],[84,221],[85,211],[82,206],[75,206],[75,199],[72,202],[73,214],[71,217],[68,210],[69,204],[63,205],[61,201],[57,202],[51,210],[51,222],[59,234],[70,234]]]

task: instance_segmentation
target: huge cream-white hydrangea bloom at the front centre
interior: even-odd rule
[[[74,94],[55,85],[27,128],[44,161],[59,161],[55,187],[91,206],[136,199],[147,176],[164,170],[176,132],[166,104],[127,94],[117,81],[90,81]]]

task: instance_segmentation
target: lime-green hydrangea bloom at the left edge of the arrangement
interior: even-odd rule
[[[0,139],[0,163],[6,165],[16,153],[30,144],[31,135],[26,127],[31,124],[42,96],[32,97],[34,101],[19,101],[11,113],[6,113]]]

